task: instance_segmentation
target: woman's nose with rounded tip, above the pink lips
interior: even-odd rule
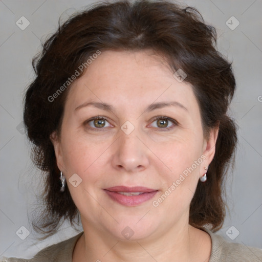
[[[148,167],[150,150],[137,135],[136,128],[129,135],[120,130],[112,158],[114,168],[125,172],[138,172]]]

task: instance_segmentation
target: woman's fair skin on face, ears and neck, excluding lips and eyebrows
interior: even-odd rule
[[[114,112],[85,102],[105,102]],[[151,103],[177,101],[151,112]],[[89,121],[106,119],[103,127]],[[154,120],[165,116],[174,124]],[[126,135],[121,126],[135,127]],[[170,129],[167,129],[170,127]],[[52,134],[57,165],[63,170],[80,214],[84,234],[73,253],[76,261],[208,261],[211,238],[188,224],[189,205],[199,178],[215,153],[218,129],[204,139],[200,108],[192,86],[178,82],[160,55],[151,50],[103,51],[71,86],[65,102],[60,139]],[[158,207],[152,205],[180,174],[202,155],[205,160]],[[74,187],[72,174],[82,179]],[[127,207],[110,199],[104,188],[144,186],[155,197]],[[134,235],[126,239],[122,230]],[[154,260],[155,259],[155,260]]]

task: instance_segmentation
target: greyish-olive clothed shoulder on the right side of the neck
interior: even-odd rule
[[[228,242],[224,237],[204,229],[212,241],[212,250],[209,262],[242,261],[261,262],[262,249],[249,247],[244,244]]]

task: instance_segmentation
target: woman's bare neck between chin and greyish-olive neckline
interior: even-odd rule
[[[207,244],[207,233],[187,224],[178,223],[161,235],[146,239],[122,241],[102,229],[82,221],[84,234],[74,250],[74,261],[208,261],[211,245],[206,254],[200,247]],[[199,232],[201,231],[201,232]],[[202,235],[201,235],[202,234]],[[201,237],[200,237],[201,235]],[[208,235],[209,236],[209,235]],[[210,242],[210,239],[208,239]],[[211,243],[211,242],[210,242]],[[76,252],[75,252],[76,251]],[[200,254],[202,255],[200,257]]]

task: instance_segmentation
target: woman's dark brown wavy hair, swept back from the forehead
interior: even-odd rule
[[[231,63],[216,47],[216,31],[206,25],[200,13],[168,1],[117,1],[98,3],[73,14],[42,44],[33,58],[36,73],[24,100],[24,122],[32,142],[32,160],[45,176],[42,200],[45,208],[33,220],[34,229],[45,239],[64,220],[79,223],[79,211],[68,187],[60,192],[59,169],[50,135],[60,135],[64,102],[70,85],[55,94],[97,50],[151,49],[167,59],[173,72],[182,69],[197,97],[205,138],[219,126],[216,150],[207,172],[206,183],[198,183],[190,204],[189,224],[213,232],[224,222],[224,180],[234,164],[236,125],[227,116],[235,91]],[[88,70],[86,67],[85,70]],[[83,73],[80,72],[80,77]],[[232,165],[233,166],[233,165]],[[76,218],[78,217],[78,222]]]

